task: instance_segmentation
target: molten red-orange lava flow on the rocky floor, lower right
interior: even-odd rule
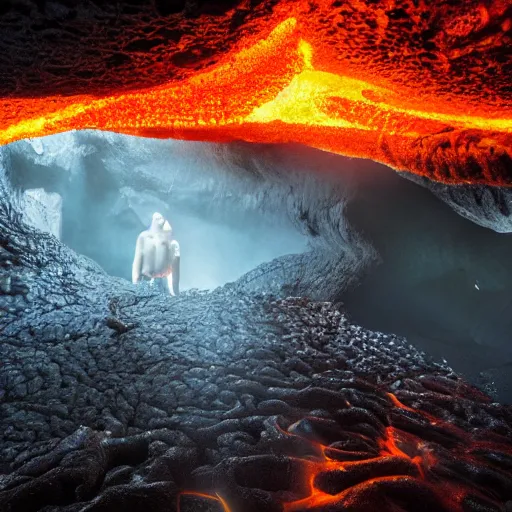
[[[333,432],[336,432],[330,423],[328,428],[331,430],[326,430],[323,419],[301,420],[309,422],[302,430],[301,422],[292,424],[287,429],[276,426],[283,439],[302,439],[312,447],[307,457],[294,457],[296,462],[302,463],[303,496],[285,502],[285,512],[337,510],[335,507],[340,507],[340,510],[368,510],[368,503],[377,502],[379,510],[385,511],[416,510],[421,505],[421,510],[462,512],[466,510],[468,500],[481,500],[487,506],[493,504],[492,506],[499,507],[499,500],[495,501],[492,491],[485,495],[489,488],[484,480],[478,488],[464,477],[450,473],[448,468],[451,461],[455,460],[451,458],[453,456],[461,467],[464,464],[468,468],[478,467],[478,456],[475,457],[474,454],[479,450],[488,449],[492,453],[510,454],[509,444],[495,441],[475,442],[463,430],[404,405],[393,394],[389,393],[388,397],[393,414],[403,414],[416,427],[420,422],[423,423],[421,430],[425,437],[388,425],[382,429],[380,438],[372,440],[366,434],[358,433],[358,428],[354,428],[351,430],[353,438],[363,443],[376,442],[377,451],[369,450],[365,455],[363,452],[335,448],[333,444],[336,446],[336,443],[327,445],[321,441],[323,436],[331,436],[332,439]],[[393,419],[390,417],[389,421],[393,422]],[[340,427],[340,432],[343,432],[343,420],[340,421]],[[443,432],[438,437],[439,442],[426,440],[431,435],[431,428],[437,434]],[[361,431],[364,432],[364,429],[363,424]],[[444,442],[454,445],[451,455],[442,447]],[[313,453],[317,455],[312,455]],[[439,475],[449,477],[441,481]],[[398,502],[394,502],[395,498]],[[409,504],[407,500],[410,500]],[[418,500],[424,502],[420,504]]]

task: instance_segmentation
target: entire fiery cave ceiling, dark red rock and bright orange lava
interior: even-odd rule
[[[512,186],[510,0],[9,0],[0,143],[300,142]]]

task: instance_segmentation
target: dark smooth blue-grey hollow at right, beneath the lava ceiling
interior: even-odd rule
[[[363,192],[363,191],[362,191]],[[459,216],[426,188],[368,166],[351,225],[382,258],[345,295],[363,325],[407,336],[512,399],[512,235]]]

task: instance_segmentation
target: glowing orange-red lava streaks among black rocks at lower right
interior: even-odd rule
[[[392,393],[388,393],[388,397],[393,406],[397,409],[401,409],[407,413],[414,413],[419,417],[424,417],[432,425],[443,424],[443,427],[448,430],[458,431],[463,437],[463,443],[461,443],[460,449],[455,449],[457,457],[471,462],[469,451],[470,447],[475,448],[475,443],[468,437],[467,433],[452,425],[444,424],[440,419],[436,419],[422,411],[414,410],[404,405]],[[293,430],[293,427],[294,425],[291,425],[288,427],[288,430]],[[277,428],[283,435],[297,436],[297,434],[288,432],[279,426]],[[311,442],[311,444],[320,446],[322,449],[320,451],[321,455],[317,457],[317,460],[311,460],[311,458],[302,460],[304,482],[307,484],[305,486],[307,495],[296,501],[284,503],[284,512],[319,510],[328,505],[338,505],[340,506],[340,510],[345,508],[359,510],[358,507],[360,506],[363,496],[373,495],[375,497],[375,492],[378,493],[380,486],[393,484],[403,485],[405,487],[422,485],[432,492],[433,495],[437,495],[439,501],[442,502],[447,509],[453,510],[454,512],[462,511],[462,502],[468,493],[479,495],[479,491],[475,488],[471,488],[470,484],[466,487],[464,483],[455,480],[453,482],[440,482],[435,476],[435,473],[431,476],[431,468],[442,463],[434,454],[435,443],[430,444],[420,437],[396,427],[388,426],[385,428],[382,438],[378,440],[379,454],[373,458],[369,455],[369,457],[364,460],[333,460],[325,455],[327,450],[330,450],[332,453],[332,448],[315,442]],[[491,445],[492,443],[478,443],[479,447],[487,446],[491,448]],[[509,446],[494,445],[494,449],[496,448],[503,449],[505,453],[510,452]],[[339,454],[342,453],[342,451],[334,451]],[[342,458],[342,456],[340,458]],[[400,461],[402,462],[400,463]],[[327,492],[325,486],[322,489],[322,485],[319,484],[319,478],[321,479],[322,475],[325,476],[329,473],[333,473],[333,481],[336,482],[336,474],[346,473],[349,476],[351,473],[361,474],[368,465],[372,464],[374,464],[376,471],[382,471],[382,469],[376,469],[379,467],[379,464],[387,465],[387,469],[384,469],[384,473],[387,474],[376,474],[375,476],[368,476],[367,478],[361,477],[360,481],[357,481],[356,478],[352,484],[338,484],[340,490],[337,492],[334,490]],[[350,479],[347,480],[347,482],[349,481]],[[383,499],[386,498],[383,497]],[[388,509],[386,508],[386,510]],[[397,510],[403,509],[398,508]]]

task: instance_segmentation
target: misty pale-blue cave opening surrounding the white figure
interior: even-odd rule
[[[288,211],[261,204],[258,173],[240,176],[222,166],[220,155],[201,157],[198,143],[112,137],[62,134],[10,148],[11,182],[25,200],[25,218],[109,275],[131,280],[137,236],[155,211],[171,222],[185,255],[182,291],[213,289],[306,250],[307,237]]]

